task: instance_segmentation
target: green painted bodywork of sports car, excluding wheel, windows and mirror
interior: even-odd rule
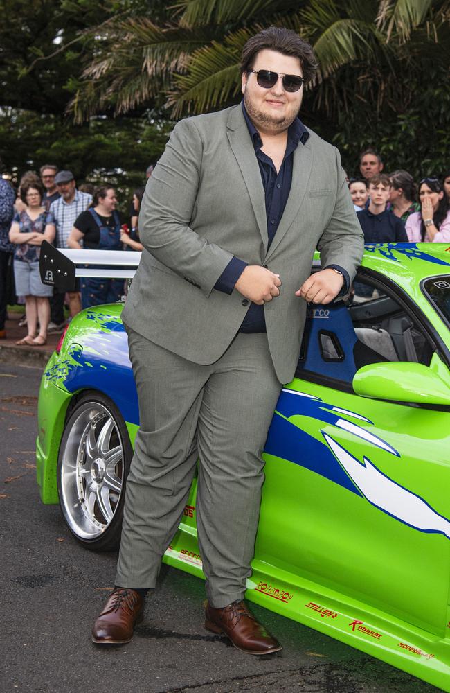
[[[447,378],[450,331],[420,282],[450,274],[450,247],[373,245],[362,266],[395,284],[422,315],[438,344],[435,371]],[[57,448],[74,395],[93,389],[111,398],[134,443],[138,403],[121,310],[84,310],[48,362],[37,443],[44,502],[57,502]],[[333,369],[325,375],[332,378]],[[294,378],[282,389],[264,448],[246,597],[450,690],[449,450],[448,407],[363,398]],[[196,488],[194,480],[163,560],[203,577]]]

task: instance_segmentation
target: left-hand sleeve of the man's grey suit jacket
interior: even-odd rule
[[[139,214],[141,243],[159,262],[210,295],[233,258],[190,228],[203,143],[192,119],[180,121],[148,179]]]

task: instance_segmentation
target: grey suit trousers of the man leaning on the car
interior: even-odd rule
[[[196,501],[206,593],[242,599],[251,574],[262,450],[281,385],[267,335],[239,333],[201,365],[127,328],[141,428],[127,479],[116,585],[152,588],[183,516],[199,458]]]

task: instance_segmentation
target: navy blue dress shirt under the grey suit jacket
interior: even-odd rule
[[[267,249],[269,249],[278,229],[278,225],[280,224],[282,214],[285,211],[287,198],[289,198],[289,192],[291,191],[294,151],[300,142],[305,144],[309,138],[309,132],[299,118],[296,118],[294,122],[289,125],[287,130],[285,156],[283,157],[280,170],[277,173],[272,159],[268,157],[267,154],[264,154],[261,149],[262,139],[258,130],[256,130],[255,125],[253,125],[251,122],[249,114],[246,112],[244,101],[242,101],[241,105],[247,128],[249,128],[253,148],[255,149],[258,166],[260,167],[262,186],[264,187],[267,235],[269,236]],[[217,279],[214,288],[224,293],[231,294],[233,288],[235,287],[235,283],[241,276],[242,272],[244,272],[247,265],[248,263],[240,260],[240,258],[233,257],[225,267],[224,272],[222,272],[219,279]],[[328,266],[335,267],[335,269],[343,273],[344,286],[347,288],[350,280],[348,273],[345,272],[342,267],[338,267],[338,265]],[[264,306],[258,306],[257,304],[252,303],[240,326],[240,332],[256,333],[265,331],[266,321],[264,319]]]

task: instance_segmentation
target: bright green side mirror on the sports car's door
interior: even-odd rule
[[[450,371],[434,353],[429,366],[389,361],[363,366],[353,389],[361,397],[417,404],[450,405]]]

